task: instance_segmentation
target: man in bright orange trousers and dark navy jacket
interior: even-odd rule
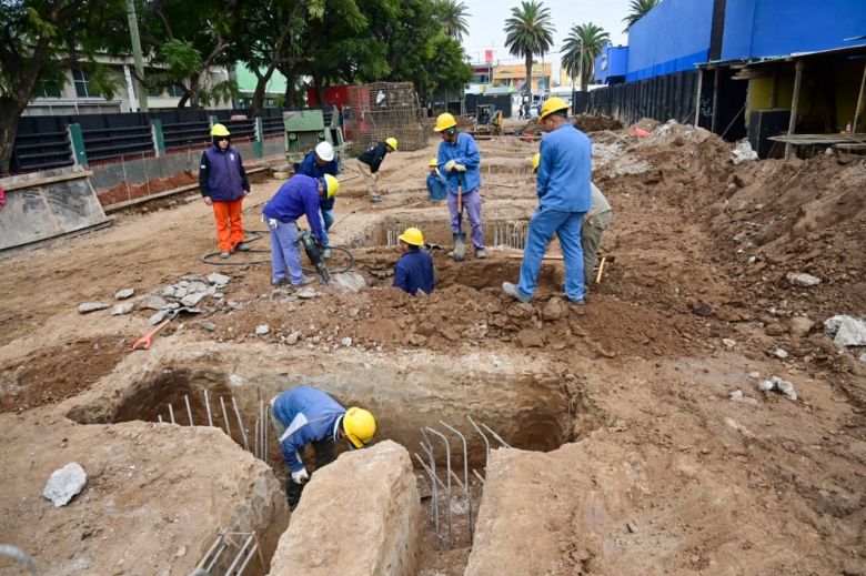
[[[220,257],[229,257],[235,250],[249,250],[243,243],[241,211],[243,196],[250,193],[250,181],[241,153],[231,144],[229,129],[213,124],[211,140],[213,145],[204,151],[199,163],[199,189],[204,203],[213,206]]]

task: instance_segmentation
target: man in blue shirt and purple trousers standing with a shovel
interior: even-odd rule
[[[454,236],[454,250],[451,256],[462,261],[465,253],[463,232],[463,210],[472,230],[472,244],[475,257],[486,257],[484,252],[484,232],[481,229],[481,154],[475,139],[457,131],[457,121],[447,112],[436,118],[433,128],[442,137],[436,158],[440,172],[444,173],[449,188],[449,212],[451,212],[451,232]]]

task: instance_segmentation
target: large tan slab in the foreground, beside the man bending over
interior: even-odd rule
[[[271,576],[409,576],[421,545],[409,452],[391,441],[316,471],[271,559]]]

